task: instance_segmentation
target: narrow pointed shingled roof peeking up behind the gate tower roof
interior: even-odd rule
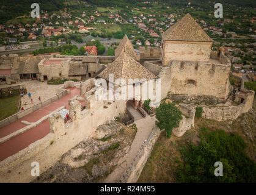
[[[137,55],[134,52],[133,44],[131,44],[131,41],[127,35],[123,37],[122,41],[119,43],[119,46],[115,49],[115,58],[119,57],[119,55],[124,51],[133,57],[133,59],[137,60]]]

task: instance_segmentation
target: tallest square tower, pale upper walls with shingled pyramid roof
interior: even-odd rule
[[[213,40],[188,13],[162,34],[163,66],[172,60],[208,62],[212,44]]]

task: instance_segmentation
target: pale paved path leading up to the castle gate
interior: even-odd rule
[[[133,161],[133,158],[136,156],[137,151],[141,147],[144,140],[147,140],[153,128],[155,127],[155,116],[150,117],[147,115],[145,118],[135,121],[137,126],[137,133],[131,144],[130,151],[122,158],[119,159],[117,163],[117,168],[114,169],[111,174],[104,180],[106,183],[118,182],[120,176],[122,176],[123,171],[125,171],[128,166]]]

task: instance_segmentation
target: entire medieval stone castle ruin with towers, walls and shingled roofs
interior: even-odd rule
[[[163,33],[162,38],[160,55],[154,55],[152,60],[150,55],[136,54],[126,35],[115,49],[115,57],[58,54],[0,57],[0,72],[3,73],[0,77],[4,85],[33,79],[41,82],[62,78],[79,80],[65,82],[53,98],[0,121],[0,132],[14,123],[23,124],[0,138],[0,182],[31,182],[34,179],[31,162],[40,163],[40,171],[43,172],[76,144],[92,137],[98,126],[120,113],[128,111],[134,121],[139,115],[146,115],[141,108],[145,101],[141,96],[112,101],[97,99],[97,96],[103,95],[97,79],[105,79],[109,85],[112,82],[109,74],[123,80],[161,79],[161,99],[178,102],[183,113],[180,127],[173,131],[178,137],[194,126],[197,103],[203,103],[200,107],[203,107],[204,118],[216,121],[236,119],[252,108],[254,91],[244,89],[243,85],[238,88],[230,85],[229,59],[222,52],[211,51],[213,40],[191,15],[180,19]],[[156,60],[156,56],[159,59]],[[137,83],[127,82],[126,85]],[[153,86],[153,91],[157,93],[156,83]],[[115,90],[118,85],[113,87]],[[67,105],[56,107],[37,121],[26,122],[26,116],[68,95]],[[159,105],[159,102],[152,102],[152,105]],[[61,110],[69,113],[70,122],[64,122]],[[33,132],[40,128],[44,129],[44,133],[37,137],[37,133]],[[32,138],[24,146],[10,147],[13,141],[17,143],[26,136]],[[119,182],[136,182],[158,136],[159,130],[154,128]]]

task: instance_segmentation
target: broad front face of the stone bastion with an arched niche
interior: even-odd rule
[[[171,94],[228,98],[229,65],[173,60],[170,68]]]

